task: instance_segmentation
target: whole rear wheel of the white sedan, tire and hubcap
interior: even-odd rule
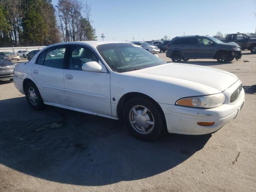
[[[33,82],[28,82],[25,87],[26,99],[29,106],[34,110],[41,110],[44,108],[44,101],[40,92]]]

